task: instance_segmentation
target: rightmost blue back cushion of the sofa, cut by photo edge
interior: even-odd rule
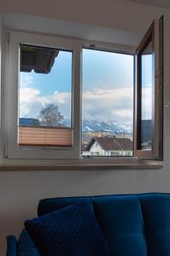
[[[170,195],[144,195],[140,201],[144,216],[148,256],[169,256]]]

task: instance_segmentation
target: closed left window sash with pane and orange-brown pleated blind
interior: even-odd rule
[[[4,113],[8,158],[77,159],[80,42],[24,32],[9,32],[9,38],[9,111]]]

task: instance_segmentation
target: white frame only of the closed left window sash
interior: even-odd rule
[[[70,38],[59,38],[41,34],[10,31],[9,40],[6,42],[5,54],[5,80],[4,97],[4,145],[6,156],[9,159],[78,159],[80,157],[81,145],[81,50],[80,41]],[[56,49],[71,50],[73,52],[72,71],[72,128],[73,144],[71,148],[37,148],[18,146],[18,96],[19,96],[19,49],[20,44],[42,46]],[[75,118],[76,117],[76,118]]]

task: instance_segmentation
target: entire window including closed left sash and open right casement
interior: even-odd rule
[[[136,54],[79,39],[9,35],[8,158],[162,159],[162,19]]]

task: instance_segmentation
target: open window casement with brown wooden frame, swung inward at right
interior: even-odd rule
[[[162,159],[162,33],[161,17],[136,49],[134,154],[155,160]]]

